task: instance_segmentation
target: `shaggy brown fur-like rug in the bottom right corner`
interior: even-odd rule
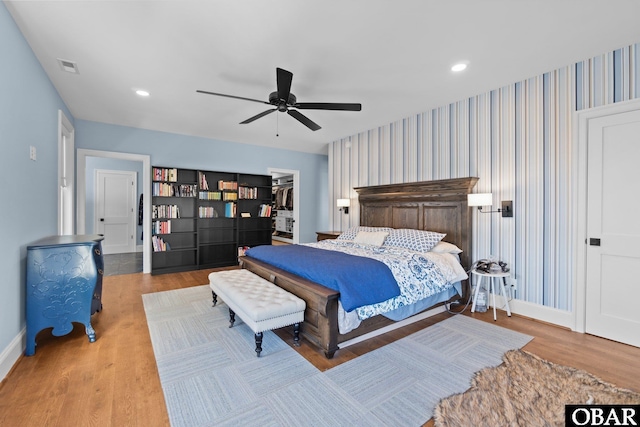
[[[585,371],[511,350],[503,365],[478,372],[470,390],[440,401],[434,422],[438,427],[563,426],[565,404],[639,403],[640,394]]]

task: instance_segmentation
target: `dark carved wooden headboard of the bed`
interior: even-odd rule
[[[360,225],[446,233],[443,240],[462,249],[460,261],[469,269],[472,208],[467,194],[477,181],[469,177],[355,188]]]

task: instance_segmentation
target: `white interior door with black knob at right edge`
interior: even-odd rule
[[[589,121],[585,331],[640,347],[640,110]]]

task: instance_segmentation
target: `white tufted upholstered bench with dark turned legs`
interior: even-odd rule
[[[305,302],[268,280],[244,269],[209,274],[213,305],[222,298],[229,306],[229,327],[237,314],[251,328],[258,357],[262,351],[262,333],[294,325],[294,345],[300,345],[300,323],[304,321]]]

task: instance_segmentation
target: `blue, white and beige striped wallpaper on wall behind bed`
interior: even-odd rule
[[[472,258],[509,263],[515,298],[572,310],[572,211],[577,110],[640,98],[640,44],[407,117],[329,145],[329,197],[351,197],[349,215],[331,209],[330,226],[357,225],[354,187],[477,176],[475,192],[494,208],[513,200],[514,218],[474,215]]]

